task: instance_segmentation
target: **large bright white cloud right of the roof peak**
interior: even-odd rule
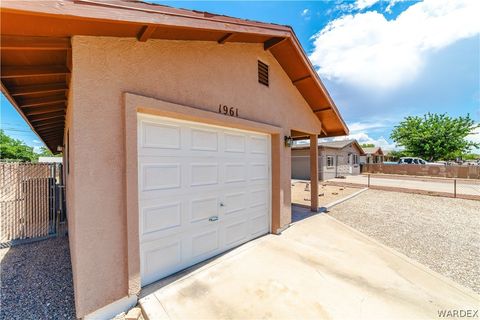
[[[392,89],[415,79],[428,55],[480,34],[480,1],[425,0],[395,20],[376,11],[346,15],[315,34],[312,62],[329,80]]]

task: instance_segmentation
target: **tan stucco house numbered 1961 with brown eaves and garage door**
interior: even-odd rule
[[[64,154],[78,317],[281,233],[291,140],[310,138],[318,175],[318,137],[348,134],[291,27],[137,1],[1,6],[2,92]]]

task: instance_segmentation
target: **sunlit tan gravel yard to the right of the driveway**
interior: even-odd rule
[[[480,201],[367,190],[329,214],[480,293]]]

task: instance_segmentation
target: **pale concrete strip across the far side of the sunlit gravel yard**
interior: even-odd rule
[[[368,184],[367,175],[346,176],[345,179],[330,179],[328,181],[337,183],[353,183],[366,186]],[[425,190],[440,193],[453,194],[453,179],[438,179],[428,177],[398,177],[398,176],[379,176],[372,174],[370,185],[390,188],[405,188]],[[480,196],[480,180],[457,180],[457,194]]]

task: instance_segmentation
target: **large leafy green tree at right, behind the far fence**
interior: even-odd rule
[[[467,114],[452,118],[446,114],[427,113],[423,117],[408,116],[392,131],[390,138],[413,156],[434,160],[449,160],[455,155],[478,148],[465,138],[479,128]]]

